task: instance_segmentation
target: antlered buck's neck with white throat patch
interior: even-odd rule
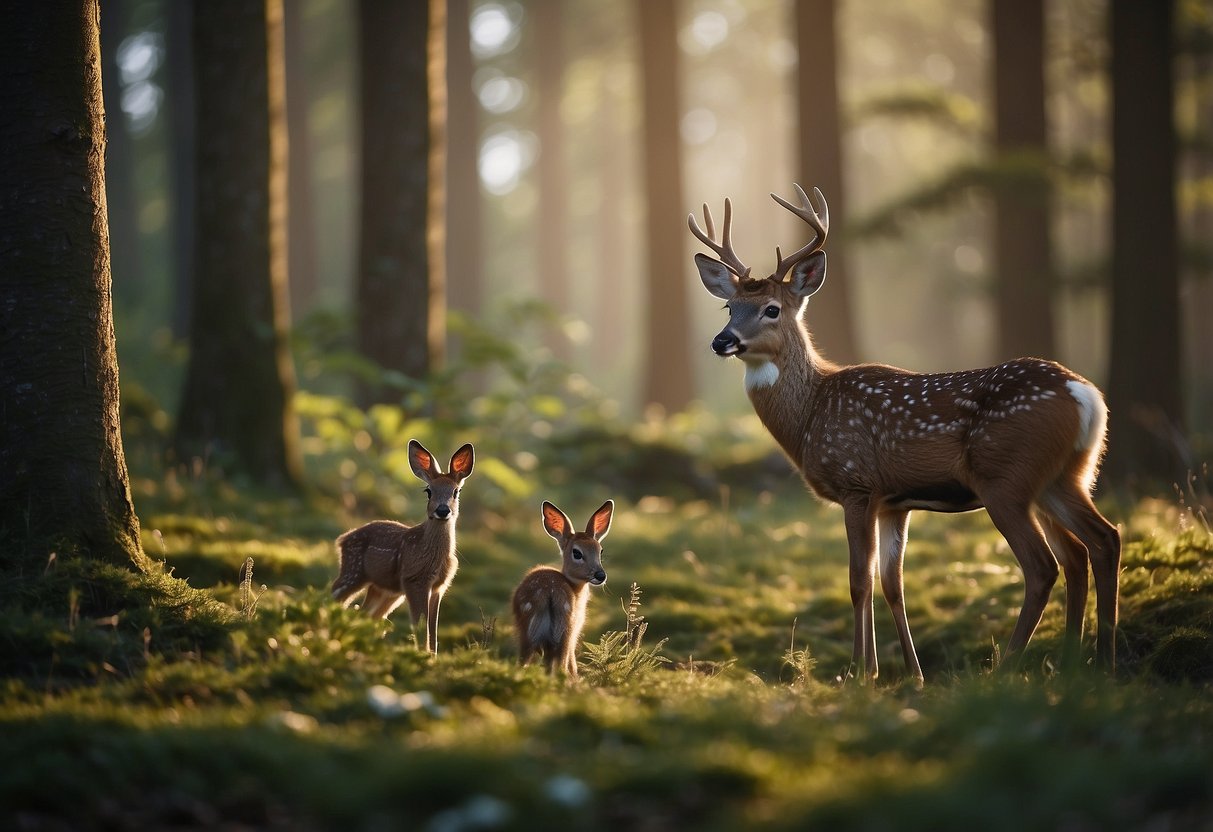
[[[836,367],[816,353],[803,323],[798,338],[769,361],[746,364],[746,393],[763,426],[793,461],[809,441],[805,424],[822,378]]]

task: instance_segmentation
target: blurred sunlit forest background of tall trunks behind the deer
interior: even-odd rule
[[[192,327],[228,387],[266,403],[234,365],[269,342],[218,334],[267,273],[281,285],[260,325],[290,332],[297,378],[291,361],[275,371],[304,417],[309,393],[443,416],[496,389],[542,432],[542,403],[559,405],[519,397],[541,378],[609,418],[696,400],[747,414],[740,367],[707,349],[722,317],[685,217],[730,196],[739,250],[770,268],[805,235],[767,196],[795,181],[831,205],[831,280],[807,314],[827,355],[917,370],[1047,355],[1109,392],[1114,474],[1169,484],[1207,458],[1208,0],[1161,15],[1145,7],[1169,4],[286,0],[268,41],[230,22],[207,40],[207,6],[102,7],[127,432],[167,431],[223,389],[184,382]],[[247,130],[266,119],[256,101],[211,103],[239,97],[244,40],[270,44],[264,132]],[[267,230],[269,257],[241,261],[216,183],[258,142],[275,187],[289,179],[289,253]],[[178,448],[212,427],[178,424]]]

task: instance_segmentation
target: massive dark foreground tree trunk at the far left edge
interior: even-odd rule
[[[0,2],[0,562],[142,565],[118,408],[97,0]]]

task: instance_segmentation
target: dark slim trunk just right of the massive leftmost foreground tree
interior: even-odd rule
[[[139,303],[139,210],[135,187],[135,137],[123,112],[118,50],[130,34],[130,4],[106,0],[101,7],[102,91],[106,101],[106,201],[109,205],[109,257],[114,291]]]

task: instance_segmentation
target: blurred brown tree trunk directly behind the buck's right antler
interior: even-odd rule
[[[842,113],[838,107],[838,35],[836,0],[796,0],[796,45],[799,53],[796,97],[799,113],[799,181],[821,188],[835,226],[843,224]],[[796,246],[792,246],[796,247]],[[830,291],[813,298],[814,344],[836,361],[859,360],[852,312],[844,235],[830,243]]]

